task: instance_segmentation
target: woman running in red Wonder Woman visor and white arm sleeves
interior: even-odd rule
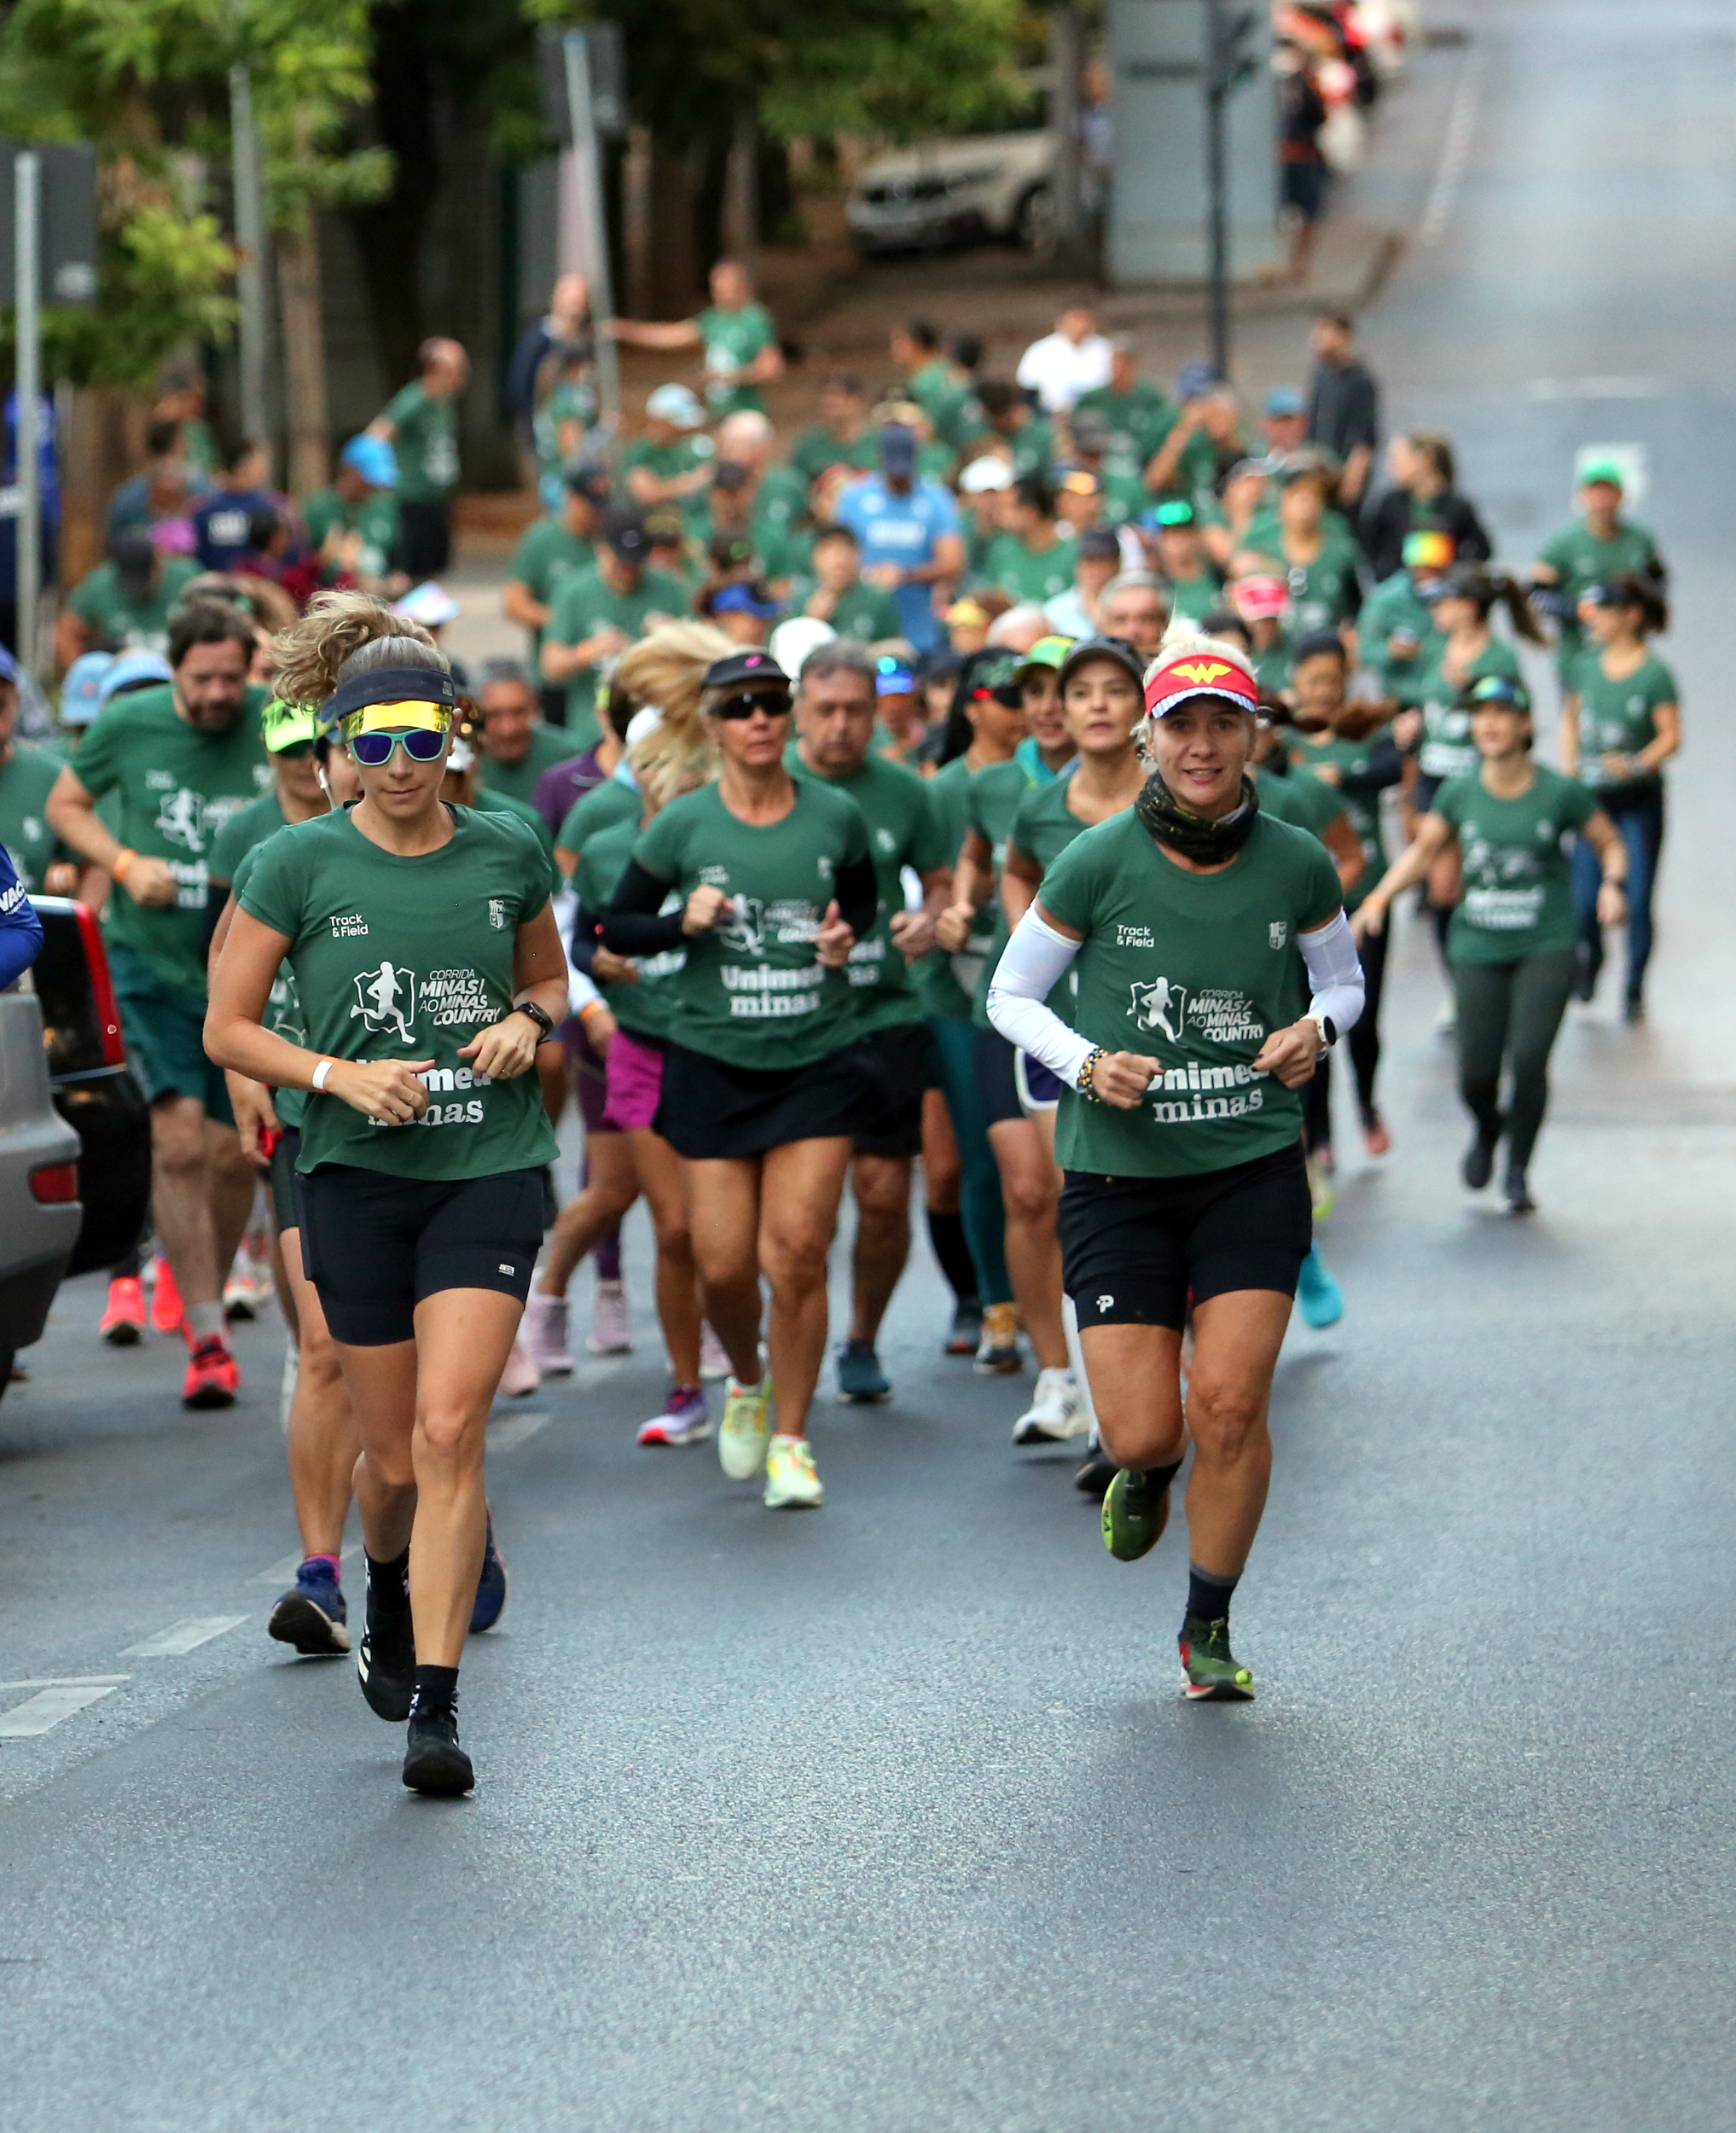
[[[1182,642],[1145,678],[1145,712],[1154,774],[1049,866],[990,1013],[1062,1088],[1064,1282],[1122,1468],[1105,1542],[1124,1561],[1158,1542],[1192,1438],[1184,1694],[1245,1700],[1231,1595],[1267,1495],[1271,1374],[1309,1248],[1299,1088],[1354,1024],[1361,977],[1327,851],[1267,817],[1248,781],[1252,668],[1216,640]],[[1062,1020],[1045,1000],[1068,979]]]

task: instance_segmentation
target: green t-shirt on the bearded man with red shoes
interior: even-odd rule
[[[228,819],[273,783],[260,740],[264,704],[267,691],[250,687],[226,734],[200,734],[177,715],[166,683],[117,695],[85,734],[75,764],[87,791],[119,796],[115,836],[122,845],[168,860],[179,883],[173,904],[151,909],[134,904],[117,881],[102,909],[109,939],[196,998],[205,998],[211,845]]]

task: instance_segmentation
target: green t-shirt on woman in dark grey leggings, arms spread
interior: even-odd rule
[[[1591,821],[1597,796],[1544,764],[1533,770],[1518,800],[1497,800],[1478,770],[1435,793],[1435,815],[1459,832],[1448,962],[1518,962],[1572,951],[1578,941],[1565,836]]]

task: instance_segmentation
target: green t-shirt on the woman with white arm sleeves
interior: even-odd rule
[[[1137,1111],[1064,1090],[1062,1169],[1192,1177],[1277,1154],[1301,1135],[1301,1092],[1254,1060],[1307,1007],[1297,934],[1339,909],[1337,872],[1307,830],[1260,815],[1218,875],[1184,872],[1132,811],[1086,830],[1043,879],[1043,909],[1083,934],[1073,1026],[1162,1062]]]

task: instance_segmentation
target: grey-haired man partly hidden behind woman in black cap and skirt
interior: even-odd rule
[[[785,753],[798,785],[847,793],[862,811],[881,902],[847,964],[881,1101],[853,1145],[851,1329],[836,1352],[840,1397],[870,1406],[891,1399],[874,1344],[911,1254],[911,1165],[923,1148],[928,1092],[938,1084],[911,966],[934,947],[934,917],[951,885],[951,853],[923,781],[874,753],[874,661],[859,646],[834,640],[813,651],[802,665],[795,740]],[[921,892],[917,909],[904,894],[906,875]]]

